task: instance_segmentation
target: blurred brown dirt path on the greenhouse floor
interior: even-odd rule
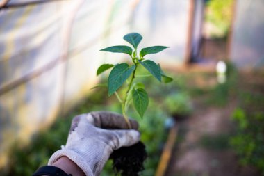
[[[195,103],[193,115],[179,122],[179,138],[166,176],[256,176],[252,168],[238,165],[229,147],[235,104],[224,108]]]

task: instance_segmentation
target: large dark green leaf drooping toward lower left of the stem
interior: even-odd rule
[[[129,67],[127,63],[115,65],[108,77],[108,95],[113,95],[113,93],[115,93],[115,91],[122,86],[124,81],[129,78],[134,70],[135,65],[131,67]]]

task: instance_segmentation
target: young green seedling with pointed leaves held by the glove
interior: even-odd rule
[[[124,40],[126,40],[126,42],[129,42],[133,48],[126,45],[117,45],[113,47],[106,47],[105,49],[101,49],[100,51],[129,54],[129,56],[131,57],[131,62],[117,63],[116,65],[103,64],[98,68],[97,75],[110,68],[113,68],[110,71],[108,77],[108,95],[110,96],[115,94],[119,102],[122,104],[122,114],[124,115],[124,119],[126,120],[127,125],[131,128],[127,116],[127,109],[129,108],[131,102],[133,102],[133,106],[135,107],[135,110],[138,112],[141,118],[143,117],[149,104],[149,96],[147,95],[145,86],[143,85],[143,83],[136,82],[135,79],[137,77],[153,76],[160,82],[163,81],[164,83],[169,83],[172,81],[172,78],[167,77],[164,74],[159,64],[156,64],[154,61],[145,59],[145,56],[147,56],[148,54],[156,54],[160,51],[163,51],[167,47],[145,47],[138,52],[138,44],[142,40],[142,36],[139,33],[129,33],[127,35],[124,35]],[[140,65],[145,67],[149,74],[136,74]],[[126,92],[121,97],[117,93],[117,90],[124,83],[126,83]]]

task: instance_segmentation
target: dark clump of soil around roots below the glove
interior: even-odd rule
[[[122,176],[138,176],[144,170],[144,161],[147,159],[145,145],[142,142],[130,147],[121,147],[110,155],[113,159],[113,169],[115,173]]]

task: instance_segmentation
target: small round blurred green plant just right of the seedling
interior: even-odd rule
[[[166,97],[164,109],[170,115],[189,115],[192,111],[190,97],[183,92],[172,93]]]

